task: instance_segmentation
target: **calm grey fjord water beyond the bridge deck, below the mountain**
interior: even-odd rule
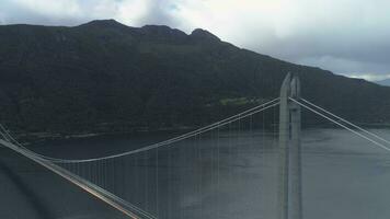
[[[388,129],[372,131],[390,139]],[[159,218],[275,218],[277,136],[263,130],[216,135],[107,161],[105,166],[115,168],[103,171],[108,178],[84,176]],[[53,157],[93,158],[172,136],[95,137],[31,148]],[[302,131],[305,218],[389,218],[389,185],[390,152],[341,129]]]

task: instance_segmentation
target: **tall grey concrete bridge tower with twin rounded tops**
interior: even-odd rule
[[[278,219],[302,219],[300,106],[298,76],[287,73],[280,88]]]

